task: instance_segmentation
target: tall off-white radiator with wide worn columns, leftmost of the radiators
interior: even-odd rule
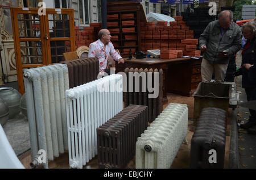
[[[48,160],[68,150],[65,108],[65,90],[69,89],[68,68],[64,64],[55,64],[25,69],[24,77],[31,166],[42,163],[44,168],[48,168]],[[44,154],[46,158],[42,157]]]

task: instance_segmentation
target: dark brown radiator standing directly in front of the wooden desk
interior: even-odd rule
[[[124,93],[125,107],[130,104],[148,106],[148,122],[152,122],[163,111],[163,70],[160,69],[125,69],[127,77],[127,92]],[[148,98],[148,82],[154,86],[154,74],[158,73],[159,95],[156,98]],[[148,78],[152,74],[152,78]],[[131,82],[132,81],[132,82]],[[132,86],[131,86],[132,85]],[[138,89],[137,89],[138,88]]]

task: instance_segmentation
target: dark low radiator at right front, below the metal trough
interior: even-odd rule
[[[203,108],[191,140],[190,168],[224,168],[225,144],[226,111]]]

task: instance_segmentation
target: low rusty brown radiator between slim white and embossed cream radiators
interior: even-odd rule
[[[97,128],[99,168],[125,168],[135,155],[135,144],[147,128],[147,119],[147,106],[129,105]]]

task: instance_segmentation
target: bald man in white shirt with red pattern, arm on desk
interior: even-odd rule
[[[98,32],[98,40],[89,45],[88,57],[97,57],[99,60],[99,69],[101,73],[108,73],[109,69],[106,69],[109,55],[118,61],[118,64],[125,62],[123,58],[115,51],[113,44],[110,41],[111,35],[109,30],[102,29]]]

